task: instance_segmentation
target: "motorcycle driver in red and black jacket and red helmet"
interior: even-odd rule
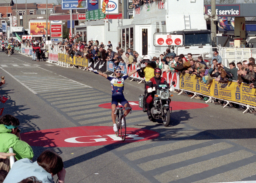
[[[152,88],[152,92],[149,93],[148,97],[147,97],[147,114],[148,114],[148,118],[150,121],[152,121],[152,114],[151,114],[151,108],[152,108],[152,102],[154,99],[154,95],[156,94],[156,90],[158,88],[159,84],[165,84],[167,87],[167,89],[170,88],[170,85],[168,84],[168,82],[161,77],[161,69],[160,68],[156,68],[154,70],[154,77],[152,77],[148,82],[147,82],[147,90],[148,88]]]

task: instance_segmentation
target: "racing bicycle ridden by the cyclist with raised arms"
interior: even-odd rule
[[[130,113],[132,113],[132,108],[129,107],[116,107],[115,108],[115,119],[117,119],[117,132],[115,132],[115,135],[118,137],[120,135],[122,141],[125,140],[126,137],[126,121],[124,117],[124,110],[130,109]],[[121,112],[119,116],[119,111]],[[120,133],[119,133],[120,131]]]

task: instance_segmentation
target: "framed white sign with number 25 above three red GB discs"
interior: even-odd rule
[[[168,47],[168,46],[183,46],[184,34],[176,33],[154,33],[154,46]]]

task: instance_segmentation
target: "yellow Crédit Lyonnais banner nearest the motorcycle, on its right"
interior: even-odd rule
[[[202,78],[196,77],[194,74],[180,74],[180,88],[191,90],[193,92],[202,93],[204,95],[213,95],[212,84],[206,85]]]

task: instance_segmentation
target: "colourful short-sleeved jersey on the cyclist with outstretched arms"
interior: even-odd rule
[[[111,77],[108,75],[108,80],[111,83],[112,93],[122,93],[124,92],[124,80],[128,78],[128,75],[123,75],[120,78]]]

